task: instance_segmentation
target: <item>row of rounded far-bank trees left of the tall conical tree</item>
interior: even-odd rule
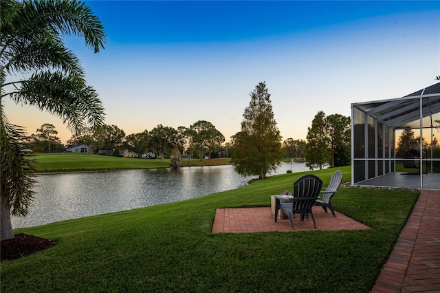
[[[37,152],[64,150],[65,146],[56,136],[58,131],[53,124],[45,123],[36,133],[31,134],[23,146]],[[102,124],[100,127],[86,128],[67,140],[67,146],[85,144],[93,146],[95,153],[118,156],[127,149],[142,155],[153,153],[156,158],[169,158],[173,150],[187,152],[192,158],[219,158],[219,149],[225,142],[224,135],[212,124],[199,120],[190,127],[165,127],[158,124],[151,131],[126,135],[116,125]]]

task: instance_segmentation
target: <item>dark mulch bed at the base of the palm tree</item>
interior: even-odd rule
[[[1,261],[19,259],[20,257],[56,246],[56,244],[55,241],[50,239],[20,233],[16,234],[15,238],[1,241],[0,258]]]

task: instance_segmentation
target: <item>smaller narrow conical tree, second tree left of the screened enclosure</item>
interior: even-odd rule
[[[322,169],[322,166],[331,162],[331,141],[328,137],[327,122],[325,113],[319,111],[314,120],[311,122],[311,127],[307,132],[307,149],[305,151],[306,166],[310,170]]]

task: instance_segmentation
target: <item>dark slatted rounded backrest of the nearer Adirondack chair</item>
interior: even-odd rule
[[[309,213],[322,188],[322,180],[307,174],[294,182],[293,213]]]

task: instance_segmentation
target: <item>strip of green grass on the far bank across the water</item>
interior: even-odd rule
[[[36,159],[35,167],[39,172],[94,171],[114,169],[150,169],[169,168],[170,160],[133,159],[111,157],[109,155],[89,155],[84,153],[40,153],[32,156]],[[230,159],[191,160],[191,166],[229,164]],[[181,166],[188,166],[183,160]]]

